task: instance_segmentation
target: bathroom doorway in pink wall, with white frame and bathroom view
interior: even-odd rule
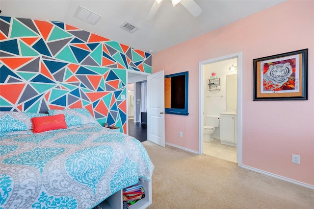
[[[241,164],[241,53],[200,62],[199,153]],[[206,116],[217,116],[204,140]],[[212,126],[213,127],[213,126]],[[208,134],[209,131],[205,130]]]

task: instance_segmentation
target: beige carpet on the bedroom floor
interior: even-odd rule
[[[314,190],[236,163],[143,142],[155,165],[148,209],[314,209]]]

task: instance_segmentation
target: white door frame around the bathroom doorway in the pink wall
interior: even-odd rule
[[[242,165],[242,52],[217,57],[199,62],[199,154],[204,151],[204,65],[237,58],[237,143],[236,159],[238,166]]]

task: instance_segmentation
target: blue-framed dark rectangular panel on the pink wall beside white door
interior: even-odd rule
[[[188,115],[188,71],[165,75],[165,112]]]

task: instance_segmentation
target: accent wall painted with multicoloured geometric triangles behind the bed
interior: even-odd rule
[[[152,55],[77,27],[0,16],[0,111],[86,108],[126,133],[126,70]]]

